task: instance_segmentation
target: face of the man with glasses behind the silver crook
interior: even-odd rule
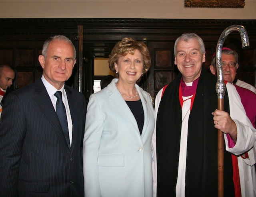
[[[222,63],[237,63],[236,58],[234,55],[227,55],[222,53],[221,57]],[[239,65],[236,64],[236,67],[230,68],[229,65],[227,65],[225,68],[223,67],[223,78],[224,81],[232,83],[236,78],[236,70],[238,69]]]

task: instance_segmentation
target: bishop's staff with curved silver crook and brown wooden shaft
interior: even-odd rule
[[[238,31],[242,40],[242,47],[246,49],[250,46],[249,37],[244,26],[232,25],[226,28],[217,43],[216,47],[216,65],[217,65],[217,83],[216,93],[218,96],[218,109],[224,110],[224,94],[226,91],[226,85],[223,80],[223,69],[222,69],[222,47],[223,43],[231,32]],[[224,139],[223,133],[218,130],[218,197],[224,197]]]

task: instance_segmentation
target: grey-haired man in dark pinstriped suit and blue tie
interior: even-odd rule
[[[75,47],[67,37],[50,37],[38,57],[42,78],[6,98],[0,124],[1,197],[84,195],[86,101],[65,85],[75,57]],[[61,92],[59,98],[56,91]],[[59,117],[60,105],[64,105],[64,121]]]

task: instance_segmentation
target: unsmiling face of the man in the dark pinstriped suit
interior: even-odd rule
[[[76,63],[74,48],[63,40],[51,41],[46,57],[39,55],[38,60],[44,69],[45,79],[56,89],[60,89],[70,78]]]

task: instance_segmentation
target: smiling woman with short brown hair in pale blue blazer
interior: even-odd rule
[[[150,68],[148,48],[124,38],[108,60],[111,83],[92,94],[83,146],[85,197],[152,197],[154,112],[136,82]]]

